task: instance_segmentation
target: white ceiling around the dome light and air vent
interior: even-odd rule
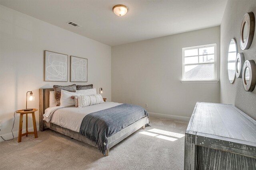
[[[1,5],[114,46],[220,25],[226,0],[1,0]],[[112,7],[124,4],[125,16]],[[72,27],[73,21],[82,27]]]

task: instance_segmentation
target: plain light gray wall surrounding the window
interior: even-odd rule
[[[112,101],[190,117],[197,101],[220,102],[220,84],[182,84],[182,48],[217,44],[220,27],[112,47]],[[217,72],[219,78],[219,71]]]

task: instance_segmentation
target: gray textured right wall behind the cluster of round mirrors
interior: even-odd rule
[[[256,14],[256,1],[228,1],[220,26],[220,102],[234,104],[250,117],[256,119],[256,89],[246,92],[242,85],[242,78],[236,78],[234,84],[228,80],[228,46],[230,39],[235,38],[238,43],[238,53],[244,53],[245,60],[256,62],[256,33],[252,45],[247,50],[240,47],[240,27],[247,12]]]

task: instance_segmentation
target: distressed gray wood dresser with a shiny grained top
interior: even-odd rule
[[[228,104],[197,102],[185,133],[185,170],[256,170],[256,121]]]

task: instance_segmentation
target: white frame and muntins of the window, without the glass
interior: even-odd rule
[[[199,55],[199,49],[200,48],[205,48],[205,47],[214,47],[214,62],[208,62],[208,63],[192,63],[192,64],[184,64],[184,51],[185,50],[191,50],[191,49],[198,49],[198,55],[195,56],[189,56],[189,57],[196,57],[198,56],[198,60],[199,60],[199,56],[203,56],[203,55]],[[217,45],[216,44],[208,44],[208,45],[199,45],[199,46],[194,46],[194,47],[186,47],[186,48],[182,48],[182,83],[218,83],[217,80],[217,49],[216,49]],[[208,54],[208,55],[212,55],[212,54]],[[184,68],[187,65],[199,65],[199,64],[209,64],[212,63],[214,64],[214,78],[213,79],[190,79],[190,80],[184,80]]]

